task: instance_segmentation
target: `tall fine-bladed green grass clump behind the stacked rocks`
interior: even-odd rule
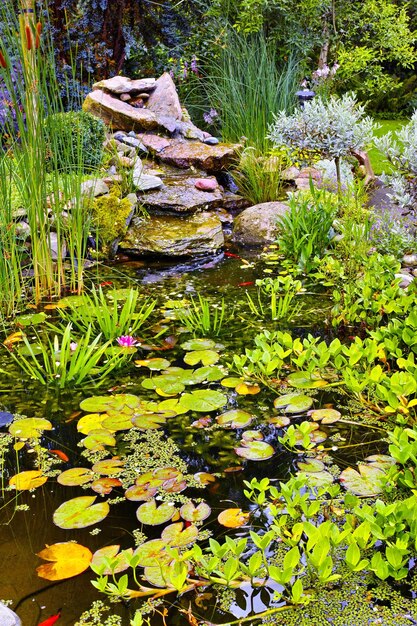
[[[207,69],[207,98],[220,116],[222,137],[236,142],[246,137],[265,153],[274,114],[292,111],[300,69],[295,58],[279,66],[276,51],[265,35],[244,36],[230,31],[226,45]]]

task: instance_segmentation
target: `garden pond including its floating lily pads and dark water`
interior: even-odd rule
[[[3,418],[0,595],[3,600],[13,601],[13,608],[25,626],[37,626],[59,610],[62,610],[59,625],[73,626],[98,598],[108,604],[110,612],[103,613],[98,621],[86,620],[80,624],[104,624],[108,615],[117,615],[123,626],[128,626],[142,603],[137,598],[108,603],[90,583],[98,576],[88,568],[88,558],[85,571],[81,569],[79,575],[69,574],[63,580],[59,576],[50,580],[39,577],[36,568],[45,565],[45,560],[37,554],[45,546],[77,542],[92,553],[106,546],[120,546],[121,550],[130,549],[132,555],[135,547],[139,546],[140,550],[144,542],[158,539],[183,553],[191,549],[197,535],[197,542],[203,547],[210,536],[222,543],[227,535],[236,541],[249,539],[243,552],[243,557],[248,558],[254,552],[250,531],[262,537],[274,522],[274,516],[259,498],[256,503],[253,497],[248,499],[245,495],[252,479],[259,482],[267,478],[270,486],[278,488],[291,475],[305,472],[303,476],[310,476],[311,482],[301,482],[299,494],[311,492],[314,502],[323,497],[320,488],[326,491],[327,485],[331,490],[330,485],[345,468],[370,455],[385,458],[385,430],[368,419],[363,407],[347,397],[331,377],[324,382],[314,377],[304,382],[298,380],[291,387],[272,375],[268,380],[251,378],[234,360],[246,348],[252,350],[256,336],[264,331],[289,329],[292,337],[301,339],[310,333],[312,338],[321,336],[329,341],[333,338],[326,322],[331,301],[320,284],[305,284],[300,288],[296,294],[299,306],[288,318],[271,319],[266,309],[263,315],[256,315],[256,306],[260,304],[256,301],[255,281],[271,274],[276,276],[280,268],[273,250],[265,258],[250,253],[243,256],[228,252],[214,259],[174,266],[157,262],[115,264],[107,268],[104,280],[92,276],[92,283],[97,288],[101,286],[110,301],[111,294],[117,293],[115,290],[133,288],[139,291],[141,301],[148,298],[157,302],[135,333],[138,343],[127,348],[131,356],[101,381],[98,388],[88,385],[55,388],[22,374],[16,359],[28,353],[22,348],[21,337],[13,333],[23,330],[29,345],[35,345],[45,334],[53,342],[60,323],[60,309],[55,305],[46,305],[44,311],[48,317],[41,324],[8,329],[9,350],[3,350],[0,382]],[[285,279],[285,272],[282,276]],[[114,298],[120,309],[124,300],[121,292],[118,293]],[[178,317],[178,310],[190,311],[198,302],[201,305],[198,294],[203,293],[212,316],[216,311],[219,317],[220,312],[223,315],[223,325],[218,333],[197,331],[193,337],[182,323],[184,319]],[[255,309],[250,306],[247,293],[252,303],[258,302]],[[63,310],[70,310],[76,319],[77,308]],[[62,354],[57,358],[62,358]],[[282,401],[277,402],[277,398]],[[295,403],[295,408],[291,403]],[[309,409],[315,415],[311,410],[307,413]],[[9,413],[12,415],[7,419]],[[312,415],[309,423],[314,428],[304,433],[304,439],[297,431],[294,443],[285,433],[290,424],[306,423],[307,414]],[[30,426],[35,432],[22,432],[18,427],[21,416],[47,421],[32,422]],[[25,475],[29,477],[27,485],[12,478],[28,471],[37,474]],[[15,488],[8,487],[10,479]],[[372,489],[370,493],[357,493],[372,495]],[[330,508],[325,513],[328,518],[339,514],[340,496],[333,497],[334,507],[330,498]],[[62,508],[70,500],[75,502],[73,508]],[[274,498],[271,502],[276,504]],[[89,507],[90,518],[85,512]],[[227,513],[219,521],[218,516],[224,511]],[[322,521],[325,519],[321,517]],[[293,523],[289,528],[292,527]],[[161,557],[164,546],[157,543],[153,546],[155,549],[158,546],[156,561],[160,557],[166,567],[169,559]],[[281,556],[270,545],[267,553],[279,563]],[[107,554],[111,556],[111,552]],[[164,583],[160,583],[160,572],[155,572],[159,570],[155,558],[152,560],[149,555],[145,558],[143,548],[139,554],[137,569],[141,575],[145,573],[140,583],[143,588],[153,589],[148,594],[153,597],[158,589],[164,588]],[[58,565],[63,569],[70,567],[71,558],[75,557],[61,557],[64,564]],[[95,558],[97,564],[98,557]],[[239,560],[239,554],[235,554],[235,560]],[[142,565],[146,566],[145,570]],[[195,570],[188,574],[198,580]],[[120,574],[116,578],[120,579]],[[359,595],[366,597],[368,582],[355,584],[362,585]],[[129,588],[132,587],[137,590],[129,570]],[[333,587],[335,593],[343,595],[343,585],[334,583]],[[194,587],[191,584],[189,592],[178,598],[171,586],[171,593],[160,603],[151,600],[145,615],[150,616],[152,626],[228,624],[271,607],[284,606],[282,596],[274,599],[274,593],[282,589],[272,578],[263,584],[259,574],[249,576],[245,582],[239,580],[239,585],[205,586],[200,581]],[[351,588],[346,593],[349,595]],[[396,593],[398,603],[411,592],[407,588],[405,595],[398,589]],[[143,596],[146,601],[148,596],[145,593]],[[335,621],[342,600],[333,598],[324,602],[329,606],[334,602],[336,606],[333,613],[329,609],[329,618],[325,618],[325,610],[323,622],[315,622],[314,617],[305,613],[305,623],[342,623]],[[376,614],[378,602],[372,604],[369,597],[370,610]],[[345,598],[343,603],[345,606]],[[387,606],[383,599],[379,604]],[[155,610],[151,611],[150,607]],[[345,626],[371,623],[355,621],[357,610],[355,605],[347,613],[352,617],[343,618],[353,620],[343,621]],[[411,621],[414,618],[408,605],[407,611],[410,621],[398,624],[417,623]],[[263,623],[293,623],[281,619],[280,613],[276,613],[267,615]],[[298,619],[296,623],[301,621]]]

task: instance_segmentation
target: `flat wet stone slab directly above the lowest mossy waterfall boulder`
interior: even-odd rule
[[[170,213],[195,213],[199,209],[215,209],[222,206],[223,194],[220,188],[217,186],[213,191],[197,189],[195,184],[199,180],[202,179],[192,176],[164,179],[162,189],[142,196],[141,202],[148,211]]]

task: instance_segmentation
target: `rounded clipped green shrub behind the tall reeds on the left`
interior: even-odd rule
[[[104,122],[85,111],[55,113],[45,119],[47,160],[52,169],[94,169],[103,159]]]

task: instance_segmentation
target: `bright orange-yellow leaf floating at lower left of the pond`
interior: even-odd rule
[[[38,576],[46,580],[65,580],[78,576],[88,568],[93,558],[88,548],[73,541],[46,546],[37,556],[51,561],[36,568]]]

